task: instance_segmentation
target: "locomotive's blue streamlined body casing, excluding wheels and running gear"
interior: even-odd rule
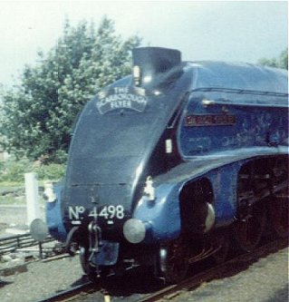
[[[183,228],[206,234],[230,225],[240,168],[288,154],[285,71],[184,63],[178,51],[155,47],[136,49],[133,65],[133,75],[84,106],[61,194],[46,208],[54,237],[76,229],[80,246],[101,241],[95,265],[131,258],[131,246],[158,246]],[[206,191],[203,218],[201,206],[184,206],[192,183]]]

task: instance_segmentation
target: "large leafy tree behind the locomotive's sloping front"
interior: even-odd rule
[[[6,151],[31,160],[65,158],[72,124],[101,87],[130,73],[130,51],[140,37],[123,41],[104,17],[98,28],[67,20],[63,35],[38,63],[26,65],[19,85],[2,93],[0,133]]]

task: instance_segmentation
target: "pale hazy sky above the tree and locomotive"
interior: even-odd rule
[[[0,83],[9,88],[37,51],[48,52],[65,18],[100,24],[106,15],[124,39],[178,49],[185,61],[256,63],[288,45],[287,1],[5,1],[0,0]]]

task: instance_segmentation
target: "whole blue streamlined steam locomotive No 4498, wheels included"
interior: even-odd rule
[[[189,264],[249,251],[288,231],[287,72],[182,62],[133,50],[132,74],[88,102],[62,183],[48,196],[55,239],[96,278],[136,265],[168,282]]]

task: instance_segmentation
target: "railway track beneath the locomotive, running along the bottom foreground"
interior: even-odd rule
[[[116,279],[108,278],[105,284],[93,285],[92,282],[84,282],[78,287],[72,287],[63,292],[57,293],[52,297],[44,298],[37,302],[55,302],[55,301],[128,301],[128,302],[153,302],[153,301],[169,301],[173,297],[177,297],[181,293],[199,287],[204,282],[209,282],[217,278],[226,278],[229,275],[246,270],[249,265],[257,261],[259,258],[264,258],[271,253],[275,253],[281,248],[288,246],[288,239],[276,239],[267,242],[259,248],[256,248],[251,253],[237,255],[234,258],[228,259],[225,263],[212,266],[205,264],[199,272],[186,278],[179,284],[168,287],[162,286],[160,282],[145,292],[145,284],[142,280],[139,281],[139,288],[134,292],[134,288],[121,288],[123,285],[128,286],[125,278]],[[197,268],[200,269],[200,268]],[[132,277],[135,279],[135,277]],[[148,281],[148,280],[147,280]],[[151,287],[151,285],[149,285]]]

